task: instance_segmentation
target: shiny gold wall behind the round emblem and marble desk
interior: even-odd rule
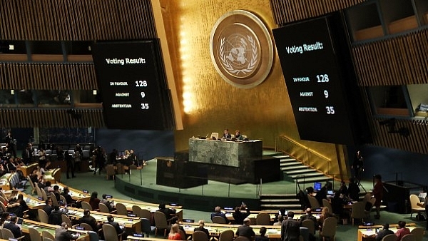
[[[215,22],[228,11],[243,9],[258,15],[267,29],[274,29],[277,26],[268,0],[160,1],[183,111],[184,129],[175,132],[176,150],[188,149],[191,136],[223,133],[224,128],[231,132],[239,129],[243,135],[260,138],[265,147],[272,148],[279,136],[286,135],[330,158],[329,173],[347,177],[342,146],[299,139],[276,51],[270,75],[254,88],[231,86],[215,71],[210,58],[210,33]],[[327,173],[327,163],[313,165]]]

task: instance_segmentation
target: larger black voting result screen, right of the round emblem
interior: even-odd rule
[[[337,16],[323,16],[273,30],[302,140],[355,143],[348,91],[358,88],[341,24]]]

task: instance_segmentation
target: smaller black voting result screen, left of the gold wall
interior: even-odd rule
[[[158,39],[96,43],[93,63],[108,128],[173,128]]]

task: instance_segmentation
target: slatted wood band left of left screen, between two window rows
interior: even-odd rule
[[[0,88],[93,90],[98,87],[92,63],[0,63]]]

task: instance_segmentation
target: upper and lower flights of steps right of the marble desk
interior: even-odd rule
[[[325,183],[332,178],[325,176],[323,173],[302,164],[300,161],[290,158],[289,155],[277,155],[280,160],[280,168],[284,173],[284,179],[297,183]],[[260,195],[261,210],[300,210],[300,202],[296,194],[270,194]]]

